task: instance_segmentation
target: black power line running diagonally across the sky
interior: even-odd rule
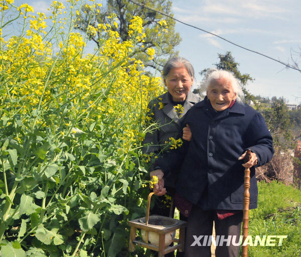
[[[275,62],[277,62],[277,63],[280,63],[280,64],[282,64],[282,65],[284,65],[284,66],[286,66],[286,67],[288,67],[288,68],[290,68],[290,69],[293,69],[293,70],[296,70],[296,71],[301,72],[301,70],[298,69],[298,68],[296,68],[296,67],[290,66],[289,64],[286,64],[286,63],[283,63],[283,62],[281,62],[281,61],[278,61],[278,60],[276,60],[276,59],[274,59],[274,58],[272,58],[272,57],[269,57],[269,56],[267,56],[267,55],[261,54],[261,53],[259,53],[259,52],[254,51],[254,50],[251,50],[251,49],[245,48],[245,47],[243,47],[243,46],[240,46],[240,45],[238,45],[238,44],[236,44],[236,43],[234,43],[234,42],[231,42],[231,41],[229,41],[229,40],[227,40],[227,39],[225,39],[225,38],[223,38],[223,37],[221,37],[221,36],[218,36],[218,35],[216,35],[216,34],[214,34],[214,33],[212,33],[212,32],[209,32],[209,31],[203,30],[203,29],[201,29],[201,28],[198,28],[198,27],[196,27],[196,26],[190,25],[190,24],[188,24],[188,23],[182,22],[182,21],[180,21],[180,20],[178,20],[178,19],[176,19],[176,18],[174,18],[174,17],[172,17],[172,16],[170,16],[170,15],[168,15],[168,14],[166,14],[166,13],[163,13],[163,12],[161,12],[161,11],[158,11],[158,10],[156,10],[156,9],[154,9],[154,8],[145,6],[144,4],[138,3],[138,2],[136,2],[136,1],[134,1],[134,0],[128,0],[128,1],[131,2],[131,3],[133,3],[133,4],[135,4],[135,5],[137,5],[137,6],[143,7],[143,8],[145,8],[145,9],[147,9],[147,10],[150,10],[150,11],[153,11],[153,12],[155,12],[155,13],[158,13],[158,14],[164,15],[164,16],[166,16],[166,17],[169,17],[169,18],[173,19],[174,21],[177,21],[177,22],[179,22],[179,23],[182,23],[182,24],[184,24],[184,25],[186,25],[186,26],[192,27],[192,28],[194,28],[194,29],[203,31],[203,32],[208,33],[208,34],[210,34],[210,35],[212,35],[212,36],[215,36],[215,37],[217,37],[217,38],[220,38],[220,39],[222,39],[222,40],[224,40],[224,41],[226,41],[226,42],[228,42],[228,43],[230,43],[230,44],[232,44],[232,45],[234,45],[234,46],[237,46],[237,47],[242,48],[242,49],[244,49],[244,50],[247,50],[247,51],[249,51],[249,52],[255,53],[255,54],[257,54],[257,55],[261,55],[261,56],[263,56],[263,57],[265,57],[265,58],[268,58],[268,59],[270,59],[270,60],[273,60],[273,61],[275,61]]]

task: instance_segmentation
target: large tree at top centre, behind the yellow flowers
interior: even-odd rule
[[[172,2],[167,0],[136,0],[143,5],[173,16]],[[139,43],[135,52],[136,59],[139,59],[147,67],[160,69],[166,62],[166,59],[175,56],[178,52],[174,48],[181,42],[180,34],[175,32],[176,22],[168,17],[140,7],[127,0],[107,0],[105,8],[95,7],[93,9],[83,6],[77,17],[76,29],[88,32],[90,40],[100,46],[102,41],[101,32],[93,33],[89,26],[97,28],[99,24],[108,24],[108,18],[112,14],[116,15],[118,28],[112,28],[118,32],[121,41],[127,41],[128,25],[134,16],[139,16],[143,20],[145,29],[144,42]],[[166,21],[162,23],[162,20]],[[158,31],[158,28],[166,28],[165,32]],[[148,60],[146,51],[153,48],[156,51],[156,58]]]

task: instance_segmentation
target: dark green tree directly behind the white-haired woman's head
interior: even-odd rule
[[[242,90],[243,90],[243,93],[245,96],[245,100],[252,100],[253,102],[255,102],[254,96],[252,94],[250,94],[246,89],[247,83],[253,81],[254,79],[249,74],[242,74],[238,70],[239,63],[237,63],[235,61],[231,52],[228,51],[228,52],[226,52],[225,55],[218,54],[218,58],[219,58],[219,62],[214,64],[216,69],[226,70],[226,71],[231,72],[240,81],[240,83],[242,85]],[[199,88],[194,91],[195,93],[199,93],[203,97],[206,94],[205,89],[204,89],[204,82],[206,79],[206,74],[209,70],[210,70],[210,68],[207,68],[207,69],[202,70],[199,73],[200,75],[202,75],[204,77],[204,79],[200,83]]]

